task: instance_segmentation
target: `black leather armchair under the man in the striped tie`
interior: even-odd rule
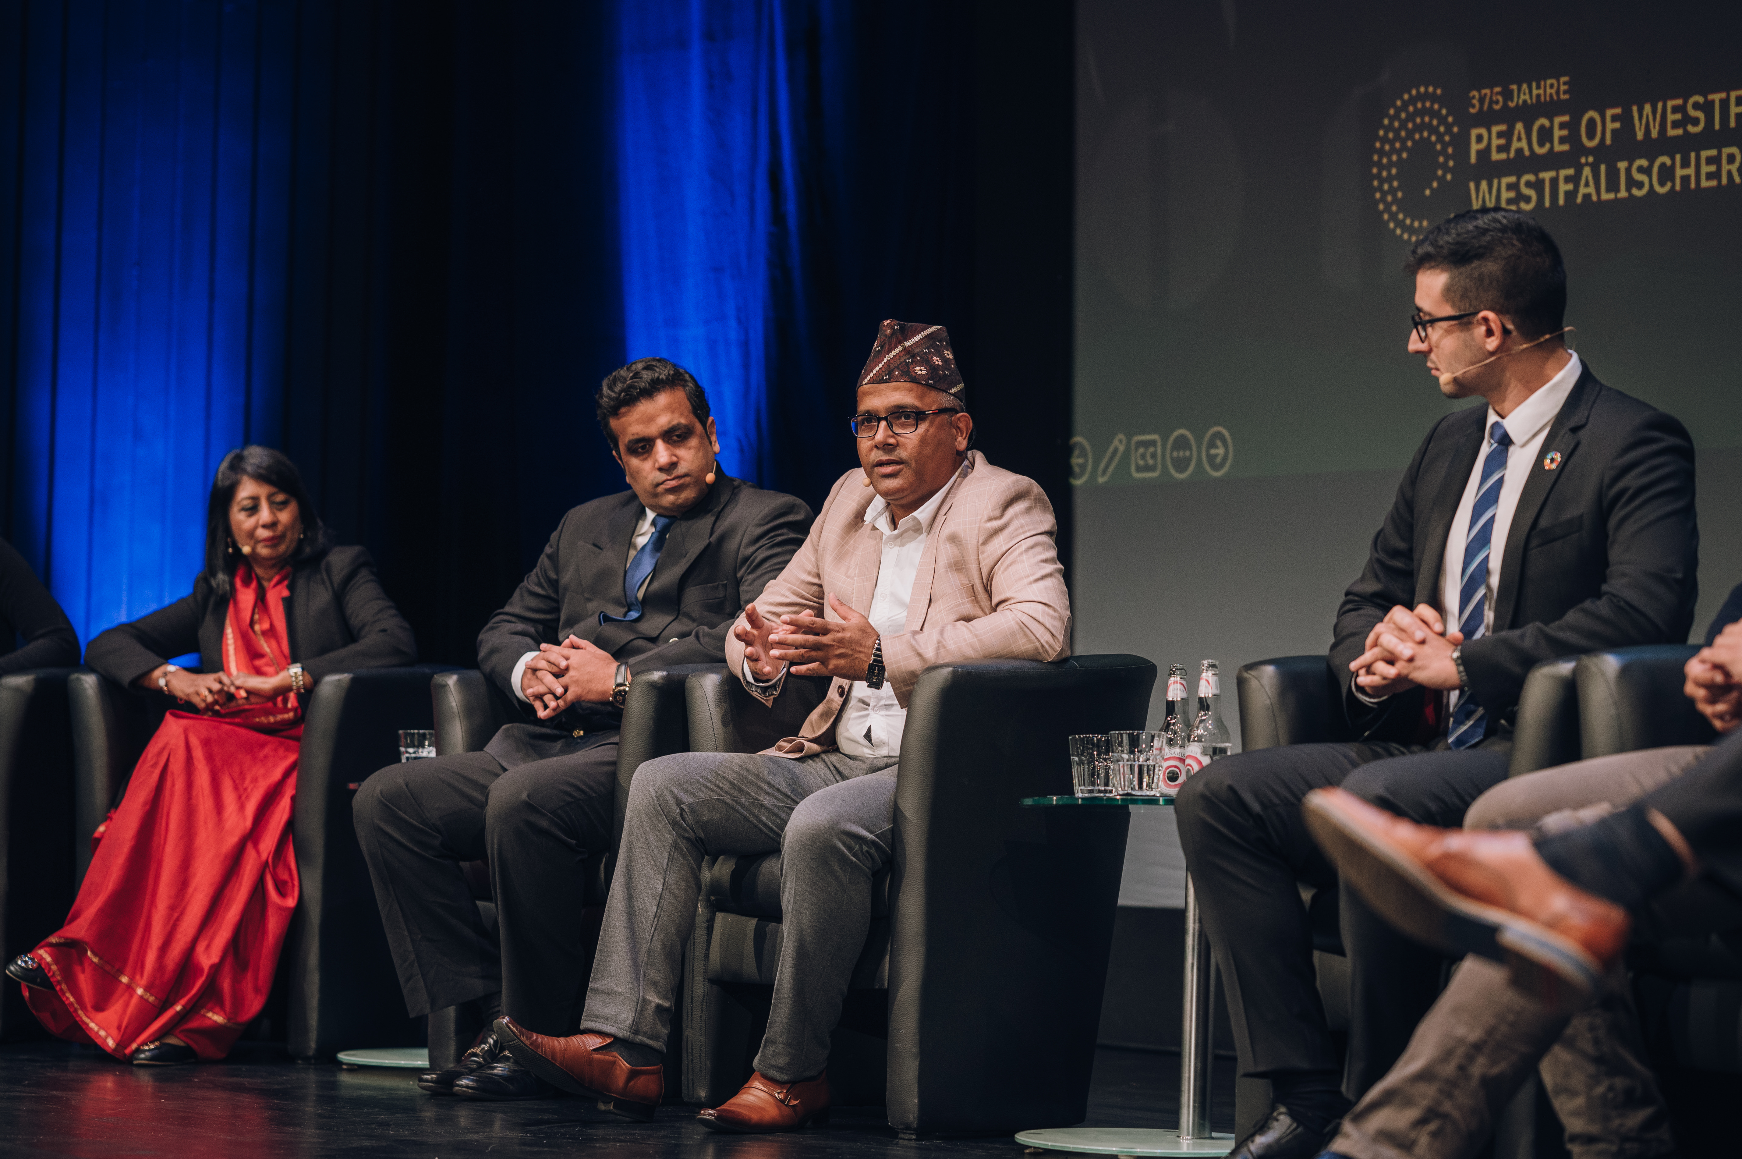
[[[1536,664],[1526,676],[1519,694],[1509,776],[1578,760],[1580,697],[1575,692],[1573,671],[1575,659],[1557,659]],[[1239,671],[1235,687],[1240,697],[1242,751],[1355,739],[1347,729],[1341,709],[1348,674],[1333,671],[1324,655],[1256,661]],[[1313,962],[1319,969],[1319,993],[1324,999],[1326,1016],[1333,1030],[1347,1032],[1350,976],[1348,960],[1343,957],[1336,891],[1313,891],[1306,912],[1312,920]],[[1237,1133],[1256,1126],[1268,1110],[1270,1084],[1263,1079],[1239,1079]]]

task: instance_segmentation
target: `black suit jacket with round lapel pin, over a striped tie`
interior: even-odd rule
[[[1486,417],[1486,406],[1470,406],[1434,425],[1373,537],[1366,570],[1343,594],[1331,668],[1361,737],[1401,741],[1420,723],[1420,692],[1367,708],[1347,692],[1348,664],[1392,607],[1441,608],[1446,535]],[[1543,465],[1550,451],[1561,453],[1554,471]],[[1519,467],[1531,474],[1507,532],[1495,629],[1463,645],[1470,692],[1502,722],[1517,715],[1524,676],[1538,661],[1683,643],[1698,596],[1693,443],[1676,418],[1604,387],[1587,364],[1542,455]]]

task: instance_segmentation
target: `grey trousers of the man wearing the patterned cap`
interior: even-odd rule
[[[582,1027],[665,1049],[702,857],[780,851],[780,960],[756,1070],[829,1063],[895,840],[895,758],[679,753],[636,770]]]

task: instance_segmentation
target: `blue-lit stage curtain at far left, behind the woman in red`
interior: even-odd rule
[[[287,10],[0,9],[9,526],[82,640],[186,594],[218,457],[277,436]]]

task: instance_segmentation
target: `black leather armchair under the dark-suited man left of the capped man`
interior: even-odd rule
[[[582,898],[584,922],[591,931],[594,946],[598,945],[599,922],[604,918],[604,899],[611,889],[611,868],[617,864],[617,840],[624,833],[624,809],[629,803],[629,783],[643,762],[667,753],[681,753],[688,746],[688,716],[685,711],[683,685],[690,673],[716,668],[712,664],[674,664],[669,669],[638,673],[629,685],[629,697],[624,701],[624,723],[617,748],[617,807],[613,810],[611,852],[598,859],[589,870],[587,892]],[[526,720],[521,706],[509,701],[498,687],[490,683],[476,668],[449,671],[436,676],[432,683],[436,699],[436,751],[442,756],[449,753],[476,753],[490,744],[496,729],[507,723]],[[472,884],[472,898],[477,901],[484,924],[495,927],[495,908],[490,892],[490,868],[483,861],[469,863],[467,880]],[[591,964],[589,964],[591,969]],[[456,1013],[449,1009],[436,1011],[429,1021],[430,1063],[453,1065],[446,1051],[451,1044],[472,1034],[467,1027],[453,1023]],[[676,1053],[667,1058],[676,1067]],[[667,1075],[667,1086],[676,1089],[678,1075]]]

